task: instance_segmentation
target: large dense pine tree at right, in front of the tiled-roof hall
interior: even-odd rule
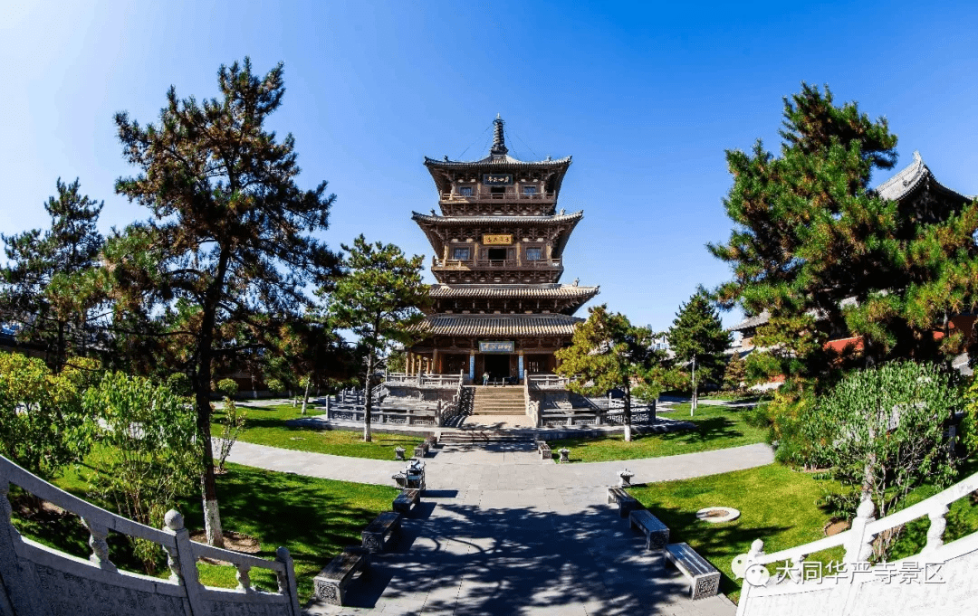
[[[802,84],[785,99],[780,136],[779,156],[760,141],[727,152],[734,227],[709,246],[733,267],[719,289],[724,304],[771,314],[757,345],[789,379],[960,352],[950,316],[978,302],[978,203],[921,212],[882,199],[869,182],[894,166],[897,137],[857,103],[836,105],[827,87]],[[826,351],[828,335],[842,331],[863,337],[865,349]]]

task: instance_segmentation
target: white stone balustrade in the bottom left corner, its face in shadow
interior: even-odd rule
[[[23,538],[11,521],[7,497],[10,484],[78,515],[89,531],[92,554],[88,560]],[[111,562],[107,541],[110,531],[161,546],[168,555],[169,579],[118,570]],[[217,589],[200,584],[197,560],[201,556],[231,562],[238,570],[238,588]],[[252,587],[250,570],[254,568],[271,570],[278,590],[264,592]],[[68,494],[2,456],[0,579],[0,607],[6,599],[16,614],[300,614],[295,571],[286,548],[278,549],[275,560],[266,560],[198,544],[190,540],[183,517],[176,511],[166,513],[164,528],[157,530]]]

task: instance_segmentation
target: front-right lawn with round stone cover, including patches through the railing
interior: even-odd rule
[[[959,477],[976,471],[978,461],[972,460],[962,467]],[[689,543],[720,570],[721,592],[735,601],[740,595],[740,581],[733,580],[733,557],[745,554],[755,539],[764,540],[764,551],[768,554],[821,539],[830,515],[819,507],[818,502],[824,491],[835,485],[830,480],[815,479],[811,473],[773,464],[747,471],[654,483],[629,491],[669,527],[670,542]],[[905,506],[938,491],[932,486],[917,488]],[[740,517],[719,524],[696,519],[695,513],[706,507],[733,507],[740,511]],[[919,553],[926,543],[927,526],[926,518],[908,524],[890,559]],[[976,530],[978,506],[968,497],[958,500],[948,515],[945,541],[954,541]],[[828,563],[840,560],[842,556],[840,547],[811,554],[808,560]]]

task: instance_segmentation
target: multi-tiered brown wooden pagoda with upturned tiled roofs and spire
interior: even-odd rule
[[[414,213],[434,256],[431,308],[408,349],[408,371],[489,373],[521,381],[556,367],[578,308],[599,287],[559,284],[563,251],[583,212],[556,211],[570,156],[527,162],[509,154],[503,120],[489,155],[462,162],[424,159],[438,188],[441,215]]]

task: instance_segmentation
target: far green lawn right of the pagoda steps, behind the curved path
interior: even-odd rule
[[[566,447],[570,450],[571,462],[606,462],[725,449],[764,442],[768,435],[767,429],[748,426],[743,421],[742,409],[700,405],[694,417],[689,417],[689,403],[676,404],[673,409],[670,412],[660,411],[658,415],[690,421],[696,424],[696,429],[666,434],[633,433],[631,442],[625,442],[622,436],[616,435],[567,438],[549,444],[555,457],[558,449]]]

